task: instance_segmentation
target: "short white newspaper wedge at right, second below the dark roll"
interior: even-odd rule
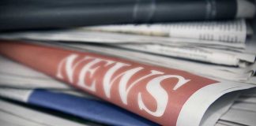
[[[255,61],[254,54],[241,54],[232,51],[203,48],[200,46],[163,46],[156,44],[122,44],[114,46],[171,57],[182,57],[195,61],[205,61],[217,65],[235,65],[243,67]]]

